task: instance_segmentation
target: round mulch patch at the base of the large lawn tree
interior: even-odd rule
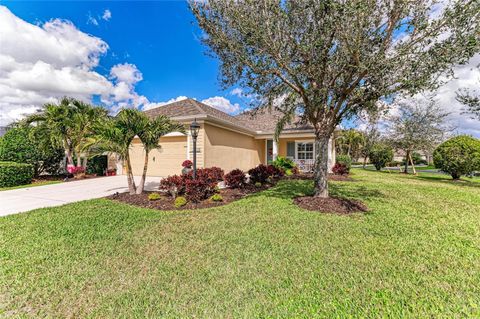
[[[352,213],[364,213],[368,211],[367,206],[361,201],[339,197],[297,197],[293,200],[299,207],[321,213],[335,213],[348,215]]]

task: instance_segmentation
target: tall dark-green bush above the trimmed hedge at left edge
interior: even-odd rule
[[[35,128],[13,127],[0,138],[0,161],[32,164],[35,176],[56,174],[65,156],[63,148],[45,141]]]

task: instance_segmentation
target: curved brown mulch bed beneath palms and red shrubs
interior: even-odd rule
[[[234,202],[236,200],[239,200],[241,198],[244,198],[249,194],[253,194],[270,187],[271,185],[263,185],[262,187],[247,185],[247,187],[243,189],[223,188],[223,189],[220,189],[220,191],[218,192],[223,198],[223,201],[221,202],[214,202],[207,199],[199,203],[188,202],[185,206],[182,206],[182,207],[175,207],[173,205],[174,203],[173,198],[166,194],[159,193],[161,195],[160,199],[148,200],[148,195],[154,192],[144,192],[143,194],[139,194],[139,195],[136,195],[136,194],[130,195],[129,193],[119,193],[119,194],[107,196],[107,198],[111,200],[123,202],[126,204],[145,207],[145,208],[153,208],[153,209],[159,209],[159,210],[185,210],[185,209],[199,209],[199,208],[222,206],[222,205]]]

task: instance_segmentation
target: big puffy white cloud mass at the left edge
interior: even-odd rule
[[[70,21],[35,25],[0,6],[0,48],[0,126],[62,96],[99,96],[114,111],[149,103],[135,92],[143,78],[135,65],[117,64],[108,78],[95,71],[108,45]]]

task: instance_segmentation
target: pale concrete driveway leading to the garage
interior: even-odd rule
[[[140,177],[135,177],[139,181]],[[156,190],[160,177],[147,177],[145,190]],[[0,191],[0,216],[60,206],[128,191],[126,176],[98,177],[44,186]]]

